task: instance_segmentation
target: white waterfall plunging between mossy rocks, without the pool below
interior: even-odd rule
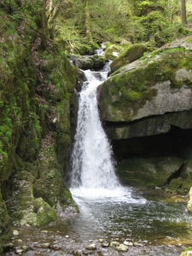
[[[116,189],[113,152],[99,118],[96,88],[107,79],[109,63],[100,73],[84,71],[87,79],[79,93],[79,112],[72,153],[70,189]]]

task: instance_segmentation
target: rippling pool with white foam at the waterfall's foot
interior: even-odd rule
[[[186,204],[144,198],[137,189],[71,189],[79,207],[74,232],[84,239],[102,236],[127,237],[158,244],[191,236],[191,216]],[[71,225],[71,224],[70,224]]]

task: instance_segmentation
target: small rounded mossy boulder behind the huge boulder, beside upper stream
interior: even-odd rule
[[[122,54],[113,60],[111,63],[112,73],[119,69],[119,67],[125,64],[131,63],[132,61],[137,61],[137,59],[143,56],[143,53],[147,50],[145,44],[133,44],[130,48],[126,49]]]

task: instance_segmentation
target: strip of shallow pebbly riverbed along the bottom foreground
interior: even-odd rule
[[[137,242],[130,238],[108,238],[83,240],[80,236],[67,236],[61,231],[33,230],[31,227],[17,227],[15,236],[3,246],[4,255],[180,255],[184,247],[176,241],[167,245],[147,245],[146,241]],[[18,235],[17,235],[18,234]],[[175,244],[174,244],[175,243]]]

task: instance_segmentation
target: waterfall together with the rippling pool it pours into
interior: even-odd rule
[[[107,73],[108,67],[102,73],[84,72],[88,81],[79,94],[70,180],[80,213],[64,225],[84,239],[124,237],[148,245],[186,243],[186,237],[192,238],[186,203],[164,201],[160,195],[146,195],[119,184],[96,104],[96,88]]]

